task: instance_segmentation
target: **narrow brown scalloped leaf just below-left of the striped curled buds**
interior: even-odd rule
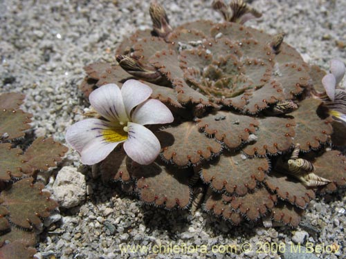
[[[307,189],[302,182],[277,171],[271,171],[266,175],[264,182],[279,198],[287,200],[302,209],[306,208],[310,200],[315,198],[315,193],[311,189]]]

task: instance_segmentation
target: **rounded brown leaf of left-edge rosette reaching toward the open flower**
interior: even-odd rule
[[[42,152],[43,151],[43,152]],[[68,151],[68,148],[60,142],[55,142],[53,138],[38,137],[33,144],[29,146],[24,153],[23,166],[24,173],[33,173],[35,170],[48,170],[55,166],[56,162],[62,160],[62,156]]]

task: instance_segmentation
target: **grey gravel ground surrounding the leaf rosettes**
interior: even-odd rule
[[[161,1],[172,26],[202,17],[221,21],[210,9],[211,1],[166,2]],[[346,61],[346,1],[251,2],[264,15],[247,25],[271,34],[286,32],[285,41],[310,64],[327,69],[332,57]],[[87,107],[78,90],[83,66],[98,60],[114,61],[113,53],[122,37],[135,28],[151,27],[148,7],[140,0],[0,1],[1,92],[26,94],[23,108],[34,115],[36,136],[51,135],[64,142],[66,126],[82,119]],[[60,166],[78,167],[78,161],[78,155],[70,152]],[[39,258],[282,258],[277,250],[286,250],[285,258],[346,256],[345,193],[311,202],[305,224],[298,229],[250,223],[232,229],[201,211],[192,218],[182,211],[143,206],[116,187],[93,180],[90,169],[80,166],[80,171],[86,175],[86,201],[61,211],[60,222],[42,235],[37,246]],[[315,253],[289,254],[292,242],[304,242],[304,251],[313,247]],[[245,243],[248,248],[242,247]],[[127,244],[144,247],[122,251]],[[155,244],[161,245],[161,251],[177,245],[180,253],[145,251]],[[331,244],[340,245],[339,251],[317,251],[318,246]],[[237,251],[227,251],[232,248],[227,245],[235,245]]]

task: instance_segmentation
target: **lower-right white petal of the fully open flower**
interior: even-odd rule
[[[154,162],[160,153],[161,145],[157,137],[140,124],[127,123],[129,138],[124,143],[124,150],[132,160],[138,164],[150,164]]]

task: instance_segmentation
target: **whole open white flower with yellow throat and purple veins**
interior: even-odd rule
[[[89,101],[104,119],[73,124],[66,131],[66,142],[80,153],[83,164],[104,160],[122,142],[127,155],[138,164],[154,162],[160,142],[143,125],[170,123],[174,117],[165,104],[148,99],[151,94],[152,88],[134,79],[125,81],[121,90],[116,84],[93,90]]]

